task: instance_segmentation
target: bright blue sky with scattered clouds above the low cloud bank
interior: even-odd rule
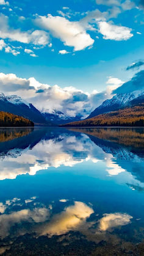
[[[143,59],[143,8],[143,0],[0,0],[1,73],[87,93],[120,86]]]

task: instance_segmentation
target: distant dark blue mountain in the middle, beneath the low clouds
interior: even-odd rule
[[[47,121],[57,123],[58,125],[81,120],[81,115],[77,115],[76,117],[69,117],[68,115],[65,115],[63,112],[57,110],[53,110],[52,113],[43,110],[41,111],[41,114],[43,115],[43,117],[45,117]]]

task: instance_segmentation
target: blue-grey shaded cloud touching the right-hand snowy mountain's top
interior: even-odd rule
[[[121,87],[118,87],[116,90],[113,90],[113,93],[130,93],[135,90],[144,90],[144,70],[141,70],[139,73],[135,74],[134,77],[128,82],[124,82]]]

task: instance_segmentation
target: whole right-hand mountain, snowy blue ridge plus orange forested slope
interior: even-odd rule
[[[114,95],[87,119],[63,126],[144,126],[144,91]]]

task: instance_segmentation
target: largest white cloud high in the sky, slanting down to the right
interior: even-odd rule
[[[64,17],[49,14],[48,16],[37,16],[35,22],[43,29],[51,31],[54,37],[60,38],[64,45],[73,46],[74,51],[93,45],[94,40],[77,21],[69,21]]]

